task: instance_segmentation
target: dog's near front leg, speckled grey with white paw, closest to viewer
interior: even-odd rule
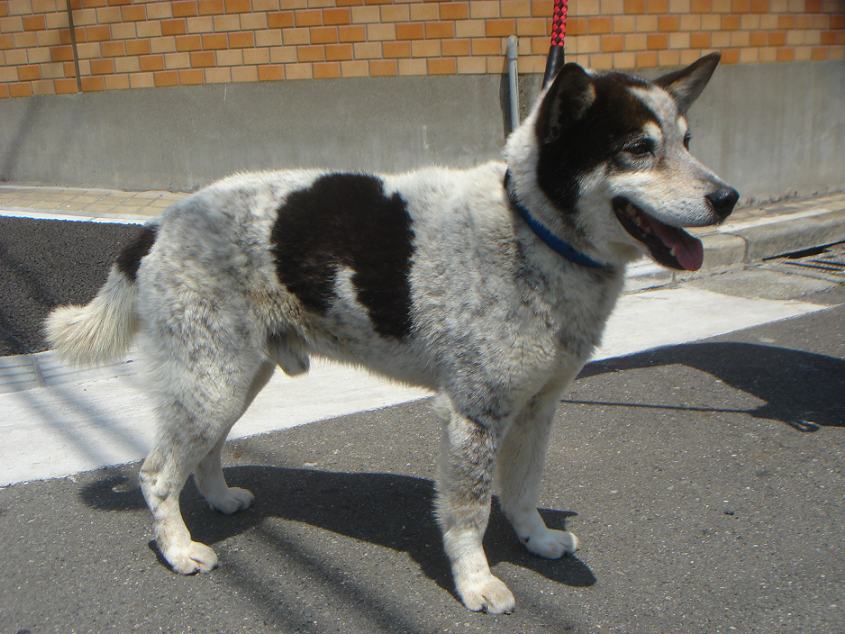
[[[470,610],[493,614],[514,607],[513,594],[490,572],[482,546],[500,434],[493,425],[451,412],[443,435],[436,500],[458,595]]]

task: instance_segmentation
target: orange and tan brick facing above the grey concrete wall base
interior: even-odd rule
[[[221,82],[542,72],[552,0],[0,0],[0,98]],[[843,0],[571,0],[567,59],[845,58]],[[77,63],[79,77],[77,78]]]

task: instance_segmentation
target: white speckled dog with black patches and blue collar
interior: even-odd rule
[[[537,511],[549,428],[600,341],[626,263],[698,269],[682,227],[719,223],[739,194],[689,153],[686,113],[718,54],[647,81],[566,64],[509,136],[504,161],[399,175],[239,174],[177,202],[117,258],[87,306],[45,329],[69,362],[150,362],[158,434],[141,472],[157,546],[178,573],[217,565],[179,493],[193,474],[222,513],[221,449],[278,365],[311,355],[438,394],[435,513],[457,595],[510,612],[482,548],[491,495],[525,547],[575,551]]]

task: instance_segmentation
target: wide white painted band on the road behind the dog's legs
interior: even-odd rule
[[[745,299],[690,288],[658,289],[620,299],[596,358],[680,344],[825,306],[797,301]],[[152,409],[140,389],[137,363],[84,375],[66,374],[45,353],[31,389],[0,389],[0,486],[60,477],[122,464],[144,456],[153,437]],[[40,357],[39,357],[40,359]],[[7,357],[3,369],[31,362]],[[63,375],[63,373],[65,373]],[[8,379],[8,376],[7,376]],[[276,372],[233,437],[251,436],[412,401],[423,390],[398,386],[364,372],[315,363],[311,373],[289,378]]]

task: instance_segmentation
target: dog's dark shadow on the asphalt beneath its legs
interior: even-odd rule
[[[235,466],[225,471],[230,486],[249,488],[255,493],[256,502],[242,513],[219,515],[208,508],[193,484],[189,484],[181,502],[195,540],[214,545],[270,518],[302,522],[405,552],[426,576],[447,591],[453,591],[449,563],[432,514],[431,480],[391,473],[268,466]],[[95,509],[145,509],[140,489],[125,486],[126,481],[125,476],[110,475],[86,485],[80,495]],[[552,510],[541,510],[541,513],[550,528],[558,529],[565,527],[567,517],[575,515]],[[495,499],[484,544],[491,566],[508,562],[570,586],[589,586],[596,582],[590,568],[575,556],[546,560],[527,552]]]

